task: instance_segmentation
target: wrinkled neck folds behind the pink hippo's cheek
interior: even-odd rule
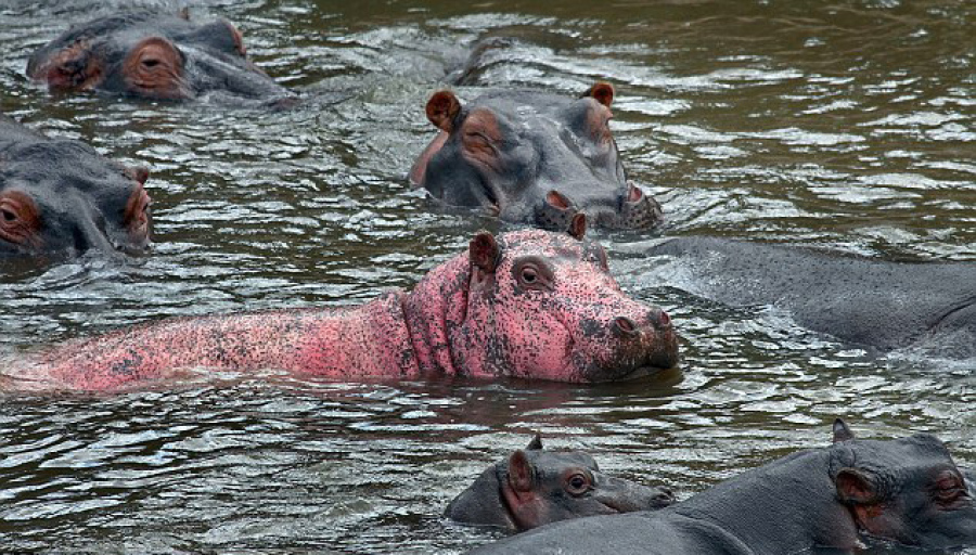
[[[431,270],[403,299],[403,317],[422,374],[465,374],[451,352],[450,333],[464,323],[471,261],[467,255]]]

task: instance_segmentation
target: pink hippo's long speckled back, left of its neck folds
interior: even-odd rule
[[[73,341],[27,375],[54,387],[115,389],[181,369],[282,369],[325,377],[414,376],[400,291],[351,309],[181,318]]]

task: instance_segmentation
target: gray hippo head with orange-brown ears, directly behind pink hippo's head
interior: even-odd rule
[[[605,82],[578,99],[504,90],[462,105],[437,92],[426,113],[440,132],[410,180],[446,204],[543,229],[565,229],[578,212],[601,227],[651,228],[660,205],[627,181],[609,129],[613,100]]]

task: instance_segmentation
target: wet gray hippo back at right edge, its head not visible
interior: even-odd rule
[[[646,250],[655,282],[735,307],[774,305],[798,324],[885,352],[976,356],[976,264],[888,262],[810,248],[679,237]]]

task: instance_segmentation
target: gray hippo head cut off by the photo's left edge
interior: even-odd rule
[[[0,115],[0,259],[151,245],[149,170]]]

